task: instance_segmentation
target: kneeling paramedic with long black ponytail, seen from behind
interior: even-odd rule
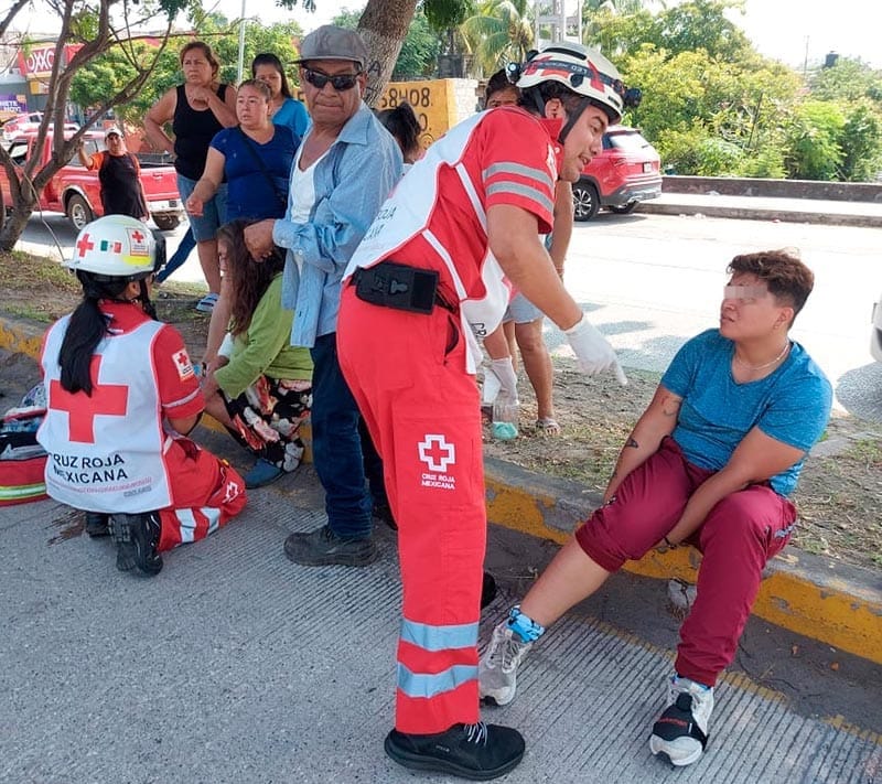
[[[205,407],[180,333],[150,302],[162,265],[150,229],[125,215],[83,228],[66,266],[83,301],[43,342],[46,491],[112,533],[117,568],[153,576],[162,550],[202,539],[245,506],[245,483],[186,438]]]

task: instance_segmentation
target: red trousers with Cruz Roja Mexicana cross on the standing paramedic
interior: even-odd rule
[[[440,307],[422,315],[368,304],[344,286],[337,352],[398,523],[395,727],[474,723],[486,507],[477,386],[459,319]]]

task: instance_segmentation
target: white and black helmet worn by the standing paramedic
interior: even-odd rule
[[[625,85],[619,69],[596,50],[560,41],[527,61],[517,80],[526,92],[544,82],[558,82],[603,109],[610,122],[622,119]]]

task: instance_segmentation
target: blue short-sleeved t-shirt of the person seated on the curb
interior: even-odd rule
[[[745,384],[732,378],[734,343],[719,330],[702,332],[677,352],[662,386],[682,398],[673,438],[690,463],[719,471],[754,427],[808,453],[827,427],[832,387],[805,348],[792,343],[776,370]],[[789,495],[803,462],[772,476],[772,488]]]

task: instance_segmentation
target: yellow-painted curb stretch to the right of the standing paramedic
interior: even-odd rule
[[[505,475],[509,473],[514,475]],[[544,492],[530,483],[527,473],[499,471],[495,461],[488,464],[487,519],[563,544],[599,500],[585,497],[580,505],[561,509],[559,492]],[[527,486],[518,486],[524,483]],[[562,484],[551,483],[558,490]],[[567,484],[572,491],[573,483]],[[800,557],[798,552],[787,550],[784,557],[770,563],[753,613],[777,626],[882,664],[882,586],[871,588],[868,580],[864,588],[835,574],[819,573],[818,568],[803,561],[824,559]],[[695,583],[700,558],[692,548],[678,548],[665,554],[650,552],[641,561],[628,561],[624,568],[643,577],[679,578]]]

